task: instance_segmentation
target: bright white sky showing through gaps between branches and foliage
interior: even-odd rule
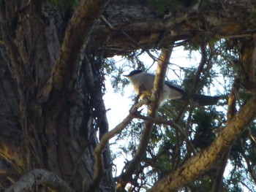
[[[143,55],[140,55],[140,61],[143,61],[146,66],[151,66],[151,69],[148,72],[154,73],[157,69],[157,62],[154,63],[152,58],[150,58],[146,53]],[[167,71],[167,80],[177,80],[179,82],[179,78],[183,78],[181,74],[181,68],[187,68],[191,66],[198,66],[200,63],[200,54],[197,51],[192,51],[192,53],[189,53],[188,50],[184,50],[184,47],[176,47],[173,49],[173,53],[170,58],[170,66],[171,69]],[[121,56],[115,56],[113,57],[116,66],[122,66],[124,62],[127,62],[126,59],[122,58]],[[126,67],[126,71],[124,74],[129,74],[131,72],[132,68]],[[216,69],[217,72],[220,69]],[[181,81],[180,81],[181,83]],[[216,80],[214,80],[214,84],[212,85],[211,91],[209,89],[204,90],[206,93],[213,95],[222,95],[224,94],[224,80],[223,77],[217,77]],[[129,109],[132,107],[132,104],[134,101],[132,100],[132,94],[133,88],[132,85],[129,83],[129,85],[124,87],[123,94],[116,93],[115,89],[112,87],[110,82],[110,77],[106,77],[105,80],[105,107],[108,110],[107,116],[108,116],[108,123],[110,130],[113,129],[118,123],[121,123],[122,120],[129,114]],[[223,108],[221,110],[224,110]],[[118,144],[113,144],[115,142],[116,137],[113,137],[113,139],[110,139],[110,145],[111,150],[114,152],[119,152],[121,155],[116,158],[114,161],[114,164],[116,164],[116,175],[121,173],[121,169],[124,167],[124,162],[126,159],[130,160],[131,157],[129,155],[122,152],[119,147],[121,145],[125,145],[125,142],[127,141],[118,141]],[[228,177],[229,172],[225,172],[225,177]]]

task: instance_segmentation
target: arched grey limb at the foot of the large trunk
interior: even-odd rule
[[[57,191],[73,192],[64,180],[61,180],[56,174],[48,172],[45,169],[34,169],[23,175],[14,185],[7,188],[6,192],[30,191],[35,185],[46,185]]]

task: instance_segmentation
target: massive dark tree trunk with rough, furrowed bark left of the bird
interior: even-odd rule
[[[100,69],[102,63],[83,62],[84,70],[79,73],[76,65],[70,64],[64,71],[67,79],[62,80],[61,88],[53,85],[50,89],[47,85],[54,81],[53,66],[67,26],[59,9],[39,1],[0,2],[4,44],[1,46],[1,158],[2,168],[16,176],[13,180],[5,179],[6,185],[2,187],[40,168],[59,175],[75,191],[83,191],[94,175],[94,147],[98,143],[95,118],[101,119],[97,123],[102,134],[108,131],[103,101],[98,100],[97,105],[103,109],[95,114],[97,107],[91,99],[102,98],[101,86],[92,90],[87,79],[90,77],[91,82],[99,84],[102,74],[86,70],[91,65]],[[69,82],[70,79],[74,80]],[[110,163],[107,147],[105,179],[100,191],[113,191]]]

